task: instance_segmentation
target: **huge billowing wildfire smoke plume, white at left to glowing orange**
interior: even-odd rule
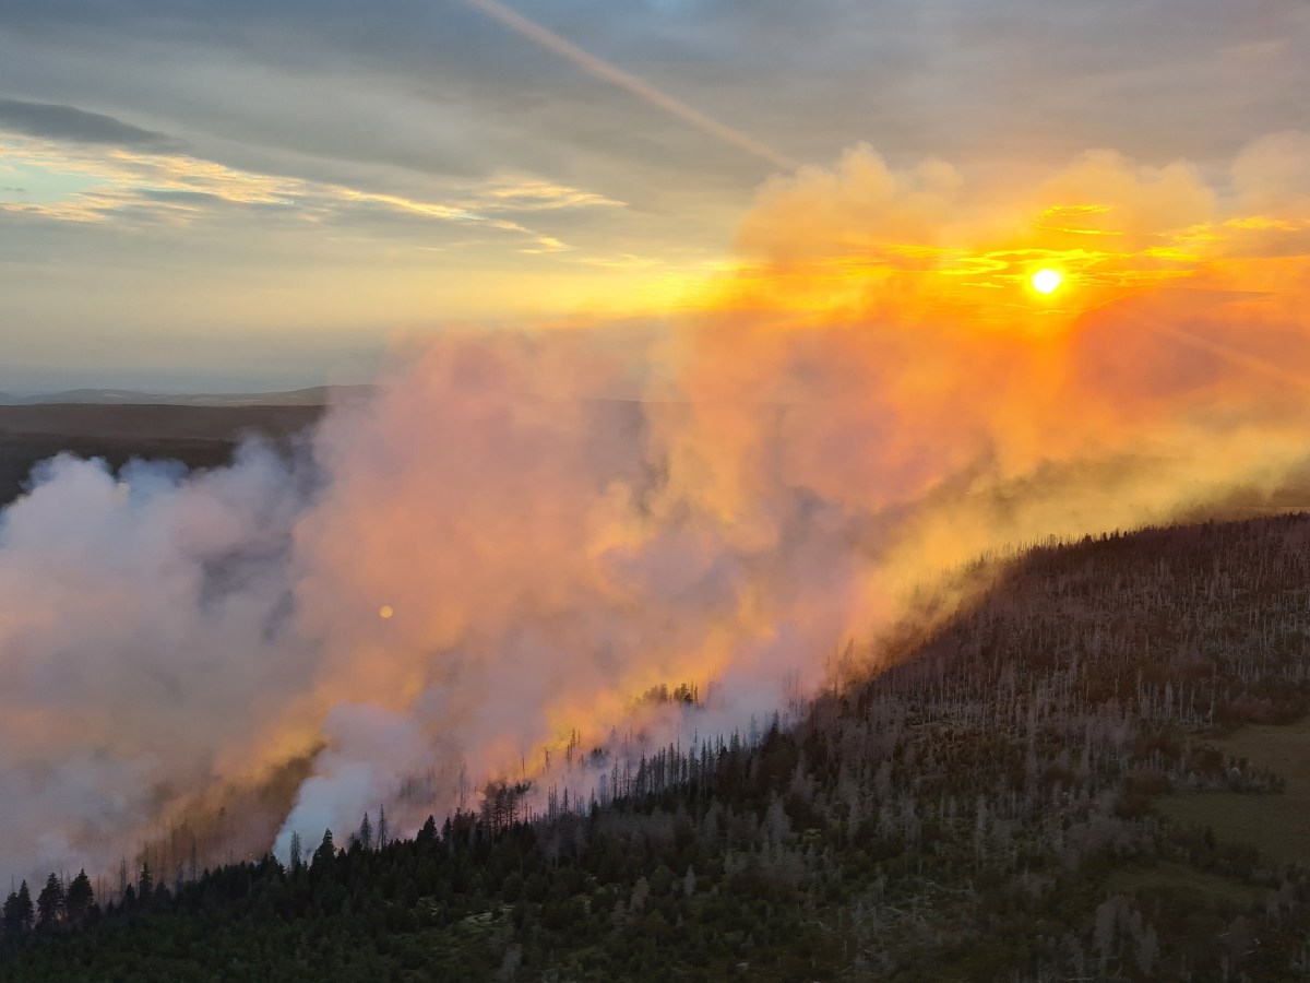
[[[1216,186],[1096,152],[971,195],[859,147],[647,342],[451,333],[291,457],[46,463],[0,518],[0,870],[590,796],[566,748],[744,731],[980,553],[1262,501],[1310,434],[1305,173],[1281,134]]]

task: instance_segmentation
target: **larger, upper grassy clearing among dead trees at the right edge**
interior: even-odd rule
[[[1310,717],[1281,726],[1248,725],[1209,743],[1282,776],[1282,794],[1162,796],[1155,801],[1159,813],[1187,826],[1208,826],[1218,839],[1255,847],[1280,864],[1310,865]]]

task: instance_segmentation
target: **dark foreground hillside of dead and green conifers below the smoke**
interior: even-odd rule
[[[1307,642],[1310,516],[1036,549],[895,668],[607,807],[489,789],[103,911],[52,876],[35,924],[7,903],[0,978],[1305,978],[1310,868],[1260,817],[1302,788],[1269,765],[1310,756]],[[1213,797],[1255,824],[1196,824]]]

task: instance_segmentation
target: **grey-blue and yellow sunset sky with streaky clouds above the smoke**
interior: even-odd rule
[[[645,336],[776,258],[791,227],[752,216],[862,160],[918,176],[867,212],[901,245],[908,187],[997,256],[1002,218],[1095,207],[1056,191],[1098,166],[1268,219],[1258,191],[1285,211],[1310,177],[1307,43],[1303,0],[3,4],[0,391],[360,381],[469,325]]]

